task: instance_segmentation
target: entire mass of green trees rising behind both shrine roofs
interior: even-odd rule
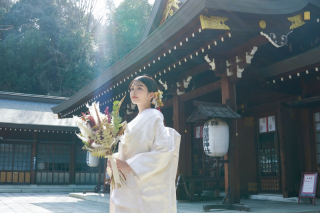
[[[14,27],[0,32],[0,90],[69,97],[137,46],[147,0],[106,0],[106,21],[96,1],[0,0],[0,25]]]

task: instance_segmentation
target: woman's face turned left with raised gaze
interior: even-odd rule
[[[133,104],[148,105],[154,97],[154,92],[148,92],[147,86],[141,81],[134,81],[130,88],[130,99]]]

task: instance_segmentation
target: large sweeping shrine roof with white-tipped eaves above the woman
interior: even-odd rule
[[[219,42],[219,39],[225,36],[222,45],[214,46],[212,44],[215,50],[214,53],[220,54],[258,35],[259,31],[250,31],[244,28],[231,31],[232,36],[229,33],[230,39],[226,30],[203,30],[200,33],[199,16],[206,9],[209,12],[212,10],[223,10],[225,13],[235,11],[239,12],[240,16],[245,13],[284,15],[301,12],[306,6],[309,5],[310,7],[310,4],[320,7],[320,0],[257,0],[254,3],[251,0],[188,0],[160,27],[143,40],[140,45],[90,84],[75,93],[70,99],[52,107],[52,111],[59,114],[60,117],[70,117],[72,114],[79,114],[81,110],[85,110],[85,103],[100,101],[106,104],[106,100],[111,100],[113,97],[117,98],[116,96],[120,97],[120,95],[123,96],[128,89],[128,82],[134,76],[138,74],[154,76],[156,72],[163,71],[168,66],[181,61],[182,65],[179,66],[178,72],[166,74],[167,79],[174,79],[175,76],[181,75],[184,71],[203,64],[204,56],[207,54],[203,52],[203,48],[210,49],[210,46],[207,46],[214,39]],[[157,5],[155,3],[155,6]],[[235,17],[235,14],[233,14],[233,20],[239,20]],[[287,17],[282,18],[287,20]],[[252,18],[247,17],[247,19],[251,20]],[[290,22],[287,24],[290,24]],[[232,26],[236,28],[238,25],[234,22]],[[189,39],[189,41],[186,41],[186,39]],[[173,47],[177,48],[174,49]],[[164,56],[165,54],[169,55],[168,50],[172,51],[170,57]],[[187,61],[189,54],[194,53],[196,50],[199,51],[199,57],[194,57],[192,60],[188,59]],[[203,55],[200,56],[202,53]],[[185,59],[186,62],[184,63],[181,59]],[[125,83],[124,80],[126,80]],[[120,87],[121,89],[119,89]],[[108,88],[109,90],[112,89],[112,91],[108,91]]]

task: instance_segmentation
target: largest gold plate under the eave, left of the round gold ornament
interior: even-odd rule
[[[230,30],[230,28],[224,24],[229,18],[210,16],[210,18],[200,15],[201,28],[204,29],[215,29],[215,30]]]

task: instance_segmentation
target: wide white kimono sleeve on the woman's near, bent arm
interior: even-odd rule
[[[140,179],[146,179],[151,175],[161,171],[171,161],[173,151],[170,147],[169,136],[163,121],[156,117],[144,131],[153,131],[152,134],[146,134],[147,137],[153,137],[153,145],[149,152],[139,153],[126,160],[136,176]],[[141,140],[150,138],[141,137]]]

